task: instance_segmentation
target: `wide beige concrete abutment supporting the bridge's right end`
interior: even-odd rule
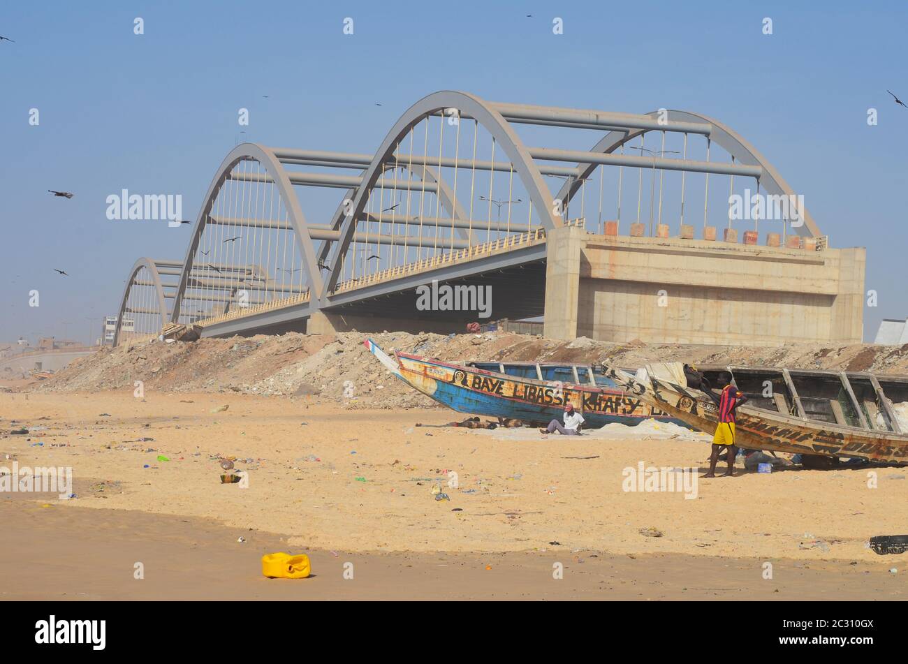
[[[863,248],[578,230],[548,235],[546,336],[750,346],[862,340]]]

